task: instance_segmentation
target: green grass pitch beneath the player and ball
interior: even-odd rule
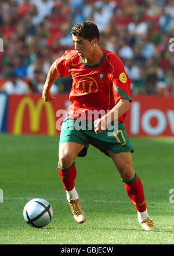
[[[174,139],[131,138],[133,166],[144,186],[148,214],[158,230],[144,231],[111,159],[90,146],[76,160],[76,189],[86,211],[74,221],[57,167],[59,137],[0,135],[0,244],[173,244]],[[40,197],[53,207],[42,229],[23,219],[24,205]]]

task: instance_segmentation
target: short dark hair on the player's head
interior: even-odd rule
[[[83,37],[89,42],[91,42],[94,38],[97,38],[99,41],[100,38],[99,29],[97,28],[96,24],[88,20],[82,21],[81,23],[77,23],[76,25],[74,25],[71,33],[73,35]]]

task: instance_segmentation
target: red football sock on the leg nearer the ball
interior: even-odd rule
[[[67,191],[71,191],[72,189],[74,189],[74,186],[75,186],[74,181],[77,175],[75,163],[71,165],[70,168],[67,168],[67,169],[62,168],[58,163],[57,169],[59,171],[60,179],[63,182],[63,188]]]

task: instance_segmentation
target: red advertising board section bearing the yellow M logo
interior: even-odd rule
[[[8,106],[8,132],[10,134],[56,135],[56,111],[66,103],[62,95],[54,103],[44,102],[42,96],[10,95]]]

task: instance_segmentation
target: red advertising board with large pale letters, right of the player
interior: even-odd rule
[[[174,96],[134,96],[125,126],[129,135],[173,136]]]

